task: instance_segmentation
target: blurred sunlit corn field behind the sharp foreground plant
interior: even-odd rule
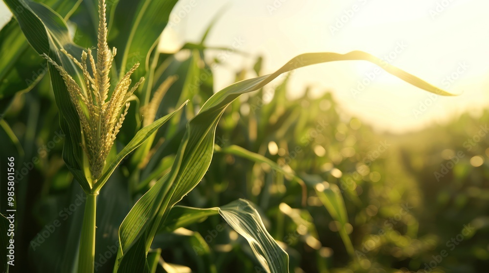
[[[142,162],[127,156],[101,191],[96,272],[112,271],[122,220],[170,171],[186,122],[214,92],[210,68],[225,60],[206,58],[204,41],[186,44],[176,55],[154,52],[159,56],[155,86],[177,76],[155,116],[190,102],[161,127],[149,156]],[[77,43],[91,46],[83,38]],[[133,63],[144,56],[131,58]],[[260,63],[257,58],[254,67],[238,71],[236,80],[247,73],[262,76]],[[77,200],[83,203],[84,195],[63,161],[58,108],[49,77],[42,77],[42,67],[40,72],[32,90],[5,95],[1,103],[1,157],[23,162],[16,185],[22,262],[15,270],[68,272],[83,217]],[[342,113],[327,91],[311,98],[307,90],[288,90],[288,79],[244,95],[225,110],[210,168],[179,205],[210,208],[250,200],[289,254],[291,272],[488,272],[488,111],[390,135]],[[304,95],[291,100],[289,92]],[[141,125],[139,113],[129,115],[119,148]],[[137,185],[132,183],[134,164],[146,167],[141,169],[146,180]],[[145,173],[149,170],[158,175]],[[263,271],[245,239],[221,216],[201,216],[201,222],[185,229],[162,229],[156,235],[157,272]]]

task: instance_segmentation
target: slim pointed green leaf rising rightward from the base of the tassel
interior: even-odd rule
[[[129,143],[122,149],[122,151],[117,154],[117,156],[114,158],[112,163],[108,166],[107,170],[105,170],[104,174],[100,179],[95,183],[93,186],[93,192],[98,192],[104,186],[104,184],[107,182],[107,179],[111,176],[111,174],[114,172],[115,168],[119,165],[119,163],[129,155],[134,149],[139,147],[139,145],[143,144],[144,141],[146,141],[149,137],[153,135],[153,133],[158,130],[159,127],[161,127],[165,122],[167,122],[173,115],[175,115],[180,109],[182,109],[183,105],[185,105],[187,102],[184,102],[180,107],[178,107],[177,110],[173,111],[172,113],[159,118],[152,124],[142,128],[139,130],[136,135],[129,141]]]

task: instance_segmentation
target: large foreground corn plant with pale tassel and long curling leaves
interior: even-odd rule
[[[178,99],[172,101],[174,105],[168,107],[172,111],[157,118],[160,104],[168,103],[163,101],[165,94],[178,78],[172,74],[171,59],[163,59],[156,50],[176,0],[120,0],[111,2],[110,6],[105,0],[96,3],[89,0],[4,2],[15,18],[7,28],[14,34],[20,29],[25,36],[11,35],[19,44],[18,50],[35,57],[35,61],[29,63],[34,69],[47,63],[60,127],[67,136],[63,159],[87,196],[81,229],[78,234],[72,234],[80,239],[70,241],[76,247],[70,246],[66,261],[58,260],[52,265],[53,272],[89,273],[98,268],[96,238],[98,230],[104,227],[97,224],[100,219],[97,212],[109,217],[114,211],[97,211],[97,205],[109,198],[104,196],[104,191],[111,185],[117,186],[121,179],[127,180],[128,202],[132,208],[118,223],[114,273],[156,272],[165,265],[160,253],[152,248],[158,234],[176,232],[216,214],[247,240],[256,261],[266,272],[289,272],[288,254],[267,232],[261,216],[249,201],[238,199],[213,208],[177,205],[202,180],[214,153],[269,164],[299,183],[304,193],[307,187],[315,189],[328,212],[343,226],[341,238],[352,254],[351,241],[344,230],[348,217],[337,188],[333,185],[325,188],[321,180],[297,176],[242,147],[221,148],[215,144],[216,128],[226,108],[240,95],[261,90],[283,73],[339,60],[370,61],[416,87],[438,95],[451,95],[360,51],[303,54],[272,74],[243,79],[219,92],[206,93],[205,84],[199,80],[199,64],[206,48],[202,41],[199,45],[187,44],[182,49],[191,52],[185,83],[176,93]],[[97,14],[92,16],[96,19],[87,23],[80,18],[84,13]],[[68,22],[78,23],[75,35],[70,33]],[[81,27],[85,25],[88,27]],[[77,35],[82,38],[77,40]],[[96,53],[92,53],[91,46],[95,44]],[[88,48],[83,49],[82,45]],[[117,55],[116,48],[119,49]],[[13,63],[22,63],[22,55],[15,56],[17,59],[14,58]],[[139,56],[136,58],[139,60],[133,61],[134,56]],[[16,79],[18,75],[6,77],[13,78],[8,88],[1,89],[6,101],[2,103],[4,107],[8,106],[7,100],[16,96],[12,90],[28,91],[43,75],[28,83]],[[133,81],[136,83],[132,84]],[[197,96],[205,98],[203,103],[194,99]],[[166,129],[163,142],[156,137],[160,128]],[[166,145],[164,153],[159,149],[162,145]],[[201,245],[205,249],[205,245]]]

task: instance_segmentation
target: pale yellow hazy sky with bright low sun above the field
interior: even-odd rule
[[[214,71],[215,91],[231,84],[243,67],[251,68],[257,56],[264,57],[264,73],[272,73],[302,53],[362,50],[460,94],[433,96],[388,73],[373,76],[376,66],[366,61],[293,73],[290,98],[306,87],[312,96],[332,92],[346,117],[378,131],[404,133],[464,112],[478,117],[489,105],[487,10],[487,0],[180,0],[159,48],[172,52],[185,41],[199,41],[222,13],[207,45],[234,46],[250,56],[226,54]],[[5,14],[2,5],[0,19]]]

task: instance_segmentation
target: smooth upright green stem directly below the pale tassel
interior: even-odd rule
[[[95,216],[97,214],[97,195],[88,194],[85,201],[80,252],[78,256],[78,273],[93,273],[95,265]]]

